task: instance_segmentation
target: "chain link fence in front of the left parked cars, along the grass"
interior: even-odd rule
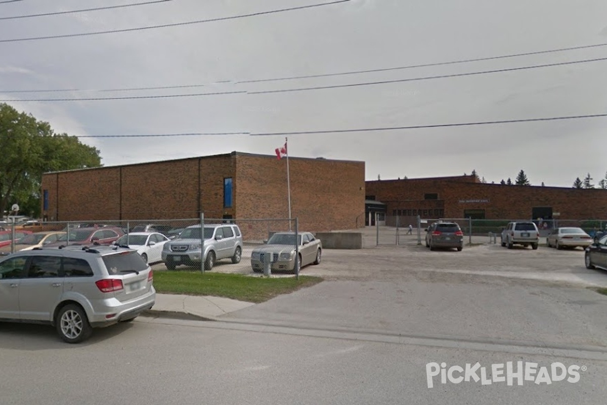
[[[200,230],[201,222],[204,233]],[[287,233],[287,236],[276,237],[280,245],[266,244],[276,233]],[[308,242],[307,236],[302,238],[296,219],[201,216],[170,220],[10,223],[0,230],[0,255],[36,247],[118,244],[137,249],[154,270],[298,275],[298,266],[310,262],[308,250],[315,246],[313,240],[306,245],[303,242]]]

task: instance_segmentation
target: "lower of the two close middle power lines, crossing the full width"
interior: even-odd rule
[[[149,95],[149,96],[133,96],[133,97],[93,97],[93,98],[33,98],[29,100],[0,100],[4,102],[8,101],[98,101],[98,100],[136,100],[141,98],[174,98],[174,97],[197,97],[202,95],[223,95],[223,94],[270,94],[270,93],[285,93],[285,92],[297,92],[297,91],[308,91],[308,90],[322,90],[322,89],[339,89],[344,87],[358,87],[358,86],[371,86],[376,84],[390,84],[390,83],[404,83],[407,81],[419,81],[419,80],[433,80],[443,79],[452,77],[464,77],[473,75],[486,75],[489,73],[503,73],[503,72],[515,72],[518,70],[527,69],[539,69],[542,67],[554,67],[554,66],[565,66],[571,64],[589,63],[597,61],[605,61],[606,58],[595,58],[586,59],[580,61],[569,61],[550,63],[543,65],[532,65],[532,66],[521,66],[521,67],[510,67],[508,69],[496,69],[496,70],[483,70],[481,72],[467,72],[467,73],[452,73],[450,75],[438,75],[438,76],[426,76],[416,77],[408,79],[397,79],[397,80],[383,80],[383,81],[371,81],[365,83],[350,83],[350,84],[334,84],[332,86],[316,86],[316,87],[298,87],[295,89],[279,89],[279,90],[260,90],[256,92],[249,92],[246,90],[234,91],[234,92],[216,92],[216,93],[194,93],[194,94],[168,94],[168,95]],[[168,87],[169,88],[169,87]]]

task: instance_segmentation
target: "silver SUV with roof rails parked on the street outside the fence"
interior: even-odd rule
[[[0,320],[55,326],[68,343],[152,308],[152,269],[136,250],[35,248],[0,259]]]

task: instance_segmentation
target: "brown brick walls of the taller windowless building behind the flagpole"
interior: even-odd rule
[[[48,220],[288,218],[287,160],[232,152],[200,158],[44,174]],[[301,230],[356,228],[364,215],[365,165],[289,159],[291,216]],[[224,179],[232,206],[224,206]],[[43,202],[42,202],[43,204]]]

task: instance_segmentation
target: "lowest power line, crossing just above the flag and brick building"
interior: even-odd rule
[[[251,136],[271,136],[271,135],[307,135],[307,134],[343,134],[347,132],[372,132],[372,131],[396,131],[399,129],[422,129],[422,128],[448,128],[456,126],[473,126],[473,125],[490,125],[490,124],[511,124],[535,121],[557,121],[557,120],[577,120],[582,118],[598,118],[607,117],[607,114],[592,114],[592,115],[570,115],[565,117],[548,117],[548,118],[524,118],[520,120],[503,120],[503,121],[476,121],[468,123],[452,123],[452,124],[432,124],[432,125],[412,125],[412,126],[397,126],[383,128],[359,128],[359,129],[330,129],[326,131],[297,131],[297,132],[184,132],[177,134],[127,134],[127,135],[76,135],[78,138],[140,138],[140,137],[185,137],[197,135],[251,135]]]

